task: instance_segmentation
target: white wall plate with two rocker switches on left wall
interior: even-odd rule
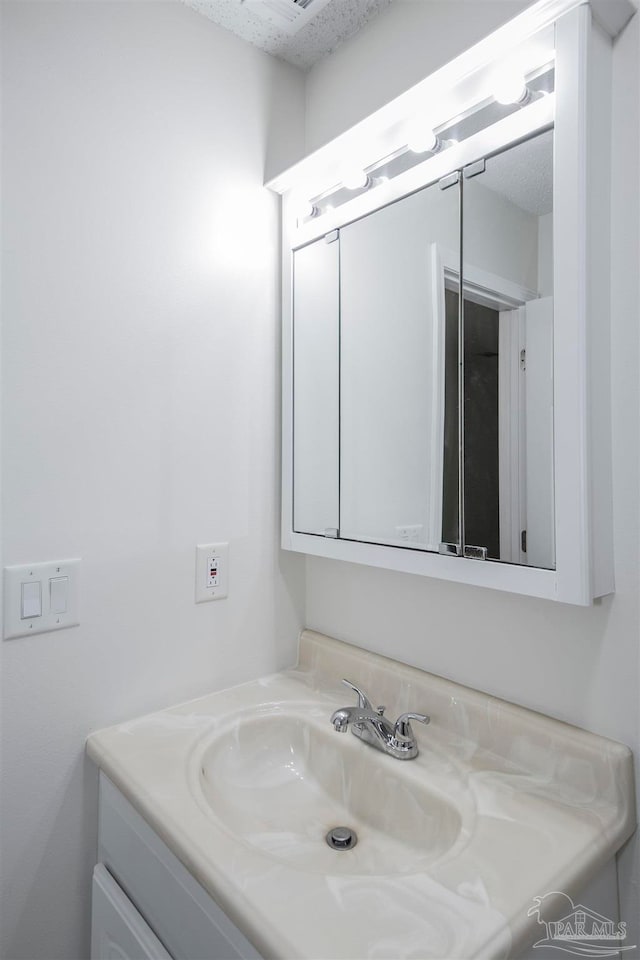
[[[24,563],[4,568],[4,639],[28,637],[34,633],[49,633],[75,627],[78,619],[78,579],[80,560],[50,560],[46,563]],[[60,583],[54,584],[54,606],[65,606],[62,613],[54,613],[51,604],[49,581],[64,583],[66,578],[66,602],[60,602]],[[40,584],[40,615],[23,616],[32,612],[32,607],[23,610],[23,584]],[[32,594],[33,591],[28,591]]]

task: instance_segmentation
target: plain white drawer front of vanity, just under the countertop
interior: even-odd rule
[[[261,960],[103,773],[98,856],[175,960]]]

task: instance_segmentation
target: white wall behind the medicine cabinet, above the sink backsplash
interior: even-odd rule
[[[488,33],[496,25],[496,7],[503,14],[509,7],[451,3],[447,19],[443,6],[393,4],[387,21],[384,15],[379,17],[314,68],[307,87],[311,144],[357,122],[401,92],[403,84],[409,85],[405,79],[416,66],[413,51],[423,54],[424,75]],[[580,724],[636,751],[640,747],[638,19],[636,15],[616,43],[613,77],[615,596],[581,609],[310,557],[306,617],[309,627]],[[452,32],[454,21],[457,33]],[[393,22],[395,30],[388,33],[386,45],[380,33],[385,22]],[[410,82],[416,79],[412,76]],[[335,108],[333,114],[329,106]],[[375,696],[375,691],[371,694]],[[629,924],[627,942],[632,944],[640,943],[638,874],[638,841],[633,840],[619,857],[620,916]]]

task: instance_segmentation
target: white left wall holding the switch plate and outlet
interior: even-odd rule
[[[0,644],[0,953],[73,960],[86,735],[294,659],[261,184],[270,151],[299,152],[303,104],[297,71],[180,3],[3,13],[4,563],[80,556],[83,579],[80,627]],[[229,599],[195,606],[194,548],[215,539]]]

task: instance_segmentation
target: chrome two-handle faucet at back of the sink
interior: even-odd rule
[[[354,736],[365,743],[382,750],[396,760],[413,760],[418,756],[418,744],[411,729],[411,720],[429,723],[430,718],[423,713],[403,713],[395,724],[384,716],[384,707],[373,707],[371,701],[355,683],[343,680],[358,696],[356,707],[341,707],[331,716],[333,729],[346,733],[349,727]]]

